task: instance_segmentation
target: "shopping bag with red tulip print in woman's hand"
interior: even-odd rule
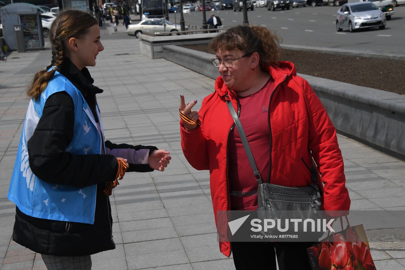
[[[346,217],[347,220],[347,217]],[[350,226],[333,233],[308,248],[313,270],[376,270],[363,225]]]

